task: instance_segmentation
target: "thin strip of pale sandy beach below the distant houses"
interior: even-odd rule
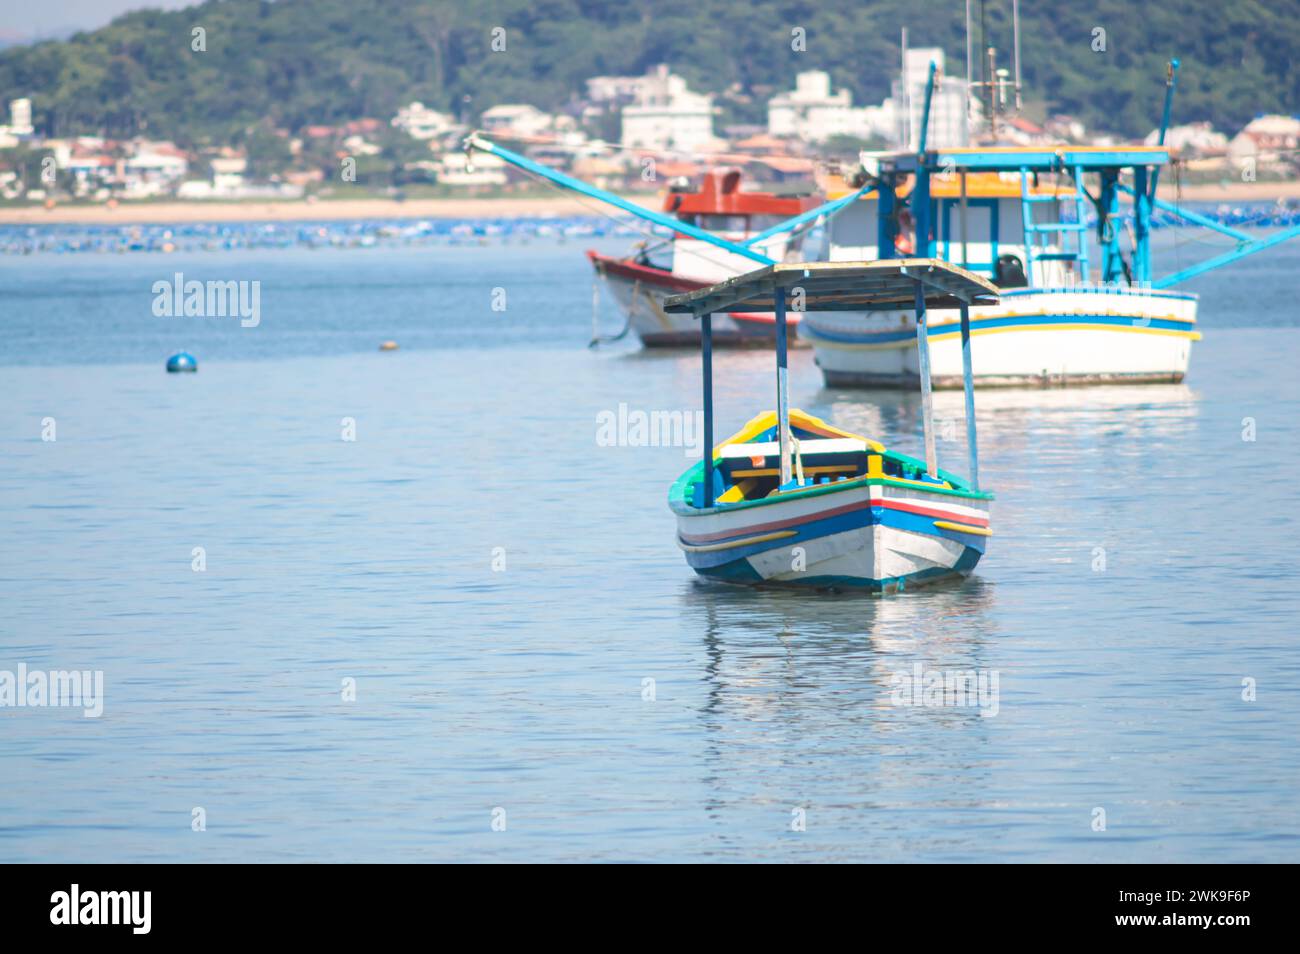
[[[1162,199],[1179,198],[1161,186]],[[627,196],[646,208],[658,205],[653,196]],[[1300,181],[1231,182],[1183,186],[1183,201],[1274,201],[1300,199]],[[165,225],[186,222],[294,222],[350,221],[367,218],[547,218],[599,214],[595,200],[564,196],[493,199],[338,199],[308,201],[159,201],[105,205],[40,205],[0,208],[0,225]],[[611,211],[612,212],[612,211]]]

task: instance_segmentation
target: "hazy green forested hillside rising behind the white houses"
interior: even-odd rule
[[[195,146],[239,140],[266,120],[296,130],[389,117],[412,99],[458,114],[504,101],[555,109],[582,94],[586,77],[668,62],[693,88],[731,91],[728,118],[762,122],[766,99],[805,69],[828,70],[855,103],[880,101],[902,26],[913,45],[942,45],[965,73],[963,9],[962,0],[211,0],[0,51],[0,97],[31,95],[49,135],[146,133]],[[1010,0],[991,0],[989,39],[1001,51],[1009,22]],[[1170,56],[1183,61],[1175,121],[1231,133],[1300,101],[1300,0],[1023,0],[1022,26],[1031,103],[1089,127],[1152,129]],[[205,30],[205,52],[191,49],[194,27]],[[493,27],[507,31],[504,52],[490,49]],[[806,52],[792,51],[793,27],[806,31]],[[1092,48],[1096,27],[1106,52]]]

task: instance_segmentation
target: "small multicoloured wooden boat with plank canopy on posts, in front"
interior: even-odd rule
[[[786,299],[809,311],[898,309],[911,302],[922,355],[926,460],[789,409]],[[997,289],[937,260],[772,265],[667,299],[701,320],[705,445],[712,448],[672,485],[677,545],[703,577],[737,584],[866,587],[892,593],[970,573],[984,554],[992,494],[979,489],[971,305]],[[776,411],[714,446],[711,315],[732,308],[776,315]],[[965,347],[970,478],[940,471],[935,452],[926,311],[957,308]]]

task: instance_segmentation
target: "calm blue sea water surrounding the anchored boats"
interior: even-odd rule
[[[1297,266],[1193,286],[1186,386],[979,395],[988,556],[871,599],[696,582],[685,451],[595,432],[698,359],[586,350],[578,246],[0,257],[0,669],[105,695],[0,708],[0,859],[1294,860]],[[260,324],[155,317],[177,272]],[[772,403],[715,374],[723,433]],[[919,450],[914,395],[792,387]],[[890,704],[916,663],[997,714]]]

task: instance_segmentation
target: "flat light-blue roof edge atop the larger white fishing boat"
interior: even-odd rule
[[[1167,165],[1166,146],[972,146],[928,149],[924,153],[898,152],[879,157],[883,168],[907,173],[926,169],[980,169],[984,172],[1127,169],[1139,165]]]

